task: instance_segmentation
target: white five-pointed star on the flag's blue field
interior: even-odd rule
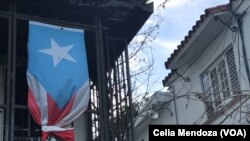
[[[51,55],[53,57],[54,67],[56,67],[62,61],[62,59],[76,63],[76,60],[69,55],[69,51],[72,49],[74,45],[59,46],[53,38],[51,38],[50,41],[51,41],[51,48],[42,49],[39,50],[39,52]]]

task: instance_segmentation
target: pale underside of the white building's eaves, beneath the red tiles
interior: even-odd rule
[[[231,13],[228,11],[207,17],[206,21],[204,21],[200,28],[196,29],[197,31],[192,35],[189,41],[183,43],[185,44],[181,46],[183,49],[172,58],[173,60],[169,60],[169,63],[166,63],[166,67],[174,70],[180,68],[184,63],[188,65],[189,62],[187,60],[192,60],[194,54],[198,54],[201,50],[209,46],[209,43],[211,43],[214,38],[216,38],[216,35],[220,34],[225,27],[222,22],[217,20],[218,17],[222,19],[222,21],[228,21],[231,17]]]

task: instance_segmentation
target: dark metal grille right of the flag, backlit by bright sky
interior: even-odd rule
[[[90,140],[102,140],[102,134],[108,133],[111,141],[129,140],[131,129],[131,107],[129,106],[128,75],[126,69],[125,52],[117,53],[126,48],[124,39],[109,38],[104,46],[104,60],[106,60],[105,87],[106,93],[100,93],[98,87],[91,85],[90,115],[91,122],[89,132]],[[100,94],[104,97],[101,98]],[[103,101],[104,100],[104,101]],[[106,111],[102,106],[106,106]],[[106,112],[106,113],[105,113]],[[103,116],[105,114],[107,117]],[[107,118],[106,126],[101,126]],[[107,122],[106,121],[106,122]],[[104,128],[104,129],[102,129]],[[104,130],[108,130],[105,132]]]

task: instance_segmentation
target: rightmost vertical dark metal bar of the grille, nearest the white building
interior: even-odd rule
[[[126,60],[125,62],[126,62],[127,84],[128,84],[129,107],[130,107],[130,122],[131,122],[130,136],[131,136],[131,141],[134,141],[134,111],[133,111],[134,108],[133,108],[132,92],[131,92],[128,43],[126,40],[125,40],[125,60]]]

